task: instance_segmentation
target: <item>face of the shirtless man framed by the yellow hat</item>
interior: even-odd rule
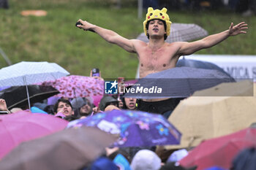
[[[148,34],[149,36],[164,36],[166,34],[165,23],[162,20],[150,20]]]

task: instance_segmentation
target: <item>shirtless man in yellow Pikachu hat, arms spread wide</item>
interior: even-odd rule
[[[116,34],[114,31],[95,26],[85,20],[78,20],[83,24],[81,26],[78,25],[78,27],[83,28],[85,31],[94,31],[99,34],[99,36],[102,36],[107,42],[116,44],[124,48],[124,50],[127,50],[129,53],[137,53],[140,62],[140,78],[146,77],[146,75],[151,73],[171,69],[176,66],[178,58],[181,55],[190,55],[198,50],[212,47],[227,39],[229,36],[245,34],[245,30],[247,29],[247,24],[244,22],[238,23],[236,26],[233,26],[233,23],[231,23],[230,28],[226,31],[207,36],[195,42],[167,43],[165,42],[165,39],[170,35],[171,22],[166,12],[166,8],[163,8],[162,10],[154,10],[152,7],[148,8],[146,20],[143,22],[144,32],[149,39],[148,43],[138,39],[126,39],[123,36]],[[145,108],[149,108],[149,106],[153,104],[153,110],[140,110],[163,114],[166,110],[156,109],[155,107],[166,106],[168,102],[165,101],[167,101],[167,98],[143,101],[143,104],[146,104]],[[139,105],[141,107],[141,104]]]

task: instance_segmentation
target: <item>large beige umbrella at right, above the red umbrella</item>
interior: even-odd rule
[[[248,82],[230,84],[229,90],[232,91],[231,87],[237,89],[244,83]],[[216,87],[222,90],[226,85]],[[231,134],[256,122],[256,98],[252,95],[207,96],[208,91],[203,91],[181,101],[170,115],[168,120],[181,131],[182,136],[181,144],[167,146],[167,149],[195,147],[205,139]]]

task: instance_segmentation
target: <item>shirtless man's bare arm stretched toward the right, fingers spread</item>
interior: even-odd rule
[[[244,22],[238,23],[233,26],[231,23],[230,28],[226,31],[222,31],[219,34],[213,34],[206,36],[195,42],[178,42],[180,43],[180,49],[178,50],[178,55],[190,55],[195,53],[197,50],[201,50],[208,47],[213,47],[219,44],[223,40],[227,39],[229,36],[236,36],[238,34],[246,34],[247,24]]]

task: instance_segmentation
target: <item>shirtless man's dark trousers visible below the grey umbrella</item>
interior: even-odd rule
[[[168,98],[163,101],[143,101],[137,99],[137,109],[143,112],[157,113],[168,118],[182,99],[184,98]]]

